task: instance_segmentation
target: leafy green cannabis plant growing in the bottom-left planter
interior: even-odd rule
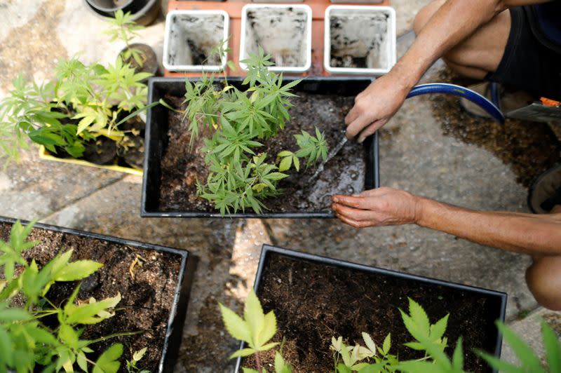
[[[91,260],[70,262],[68,250],[39,269],[34,259],[28,262],[23,253],[36,242],[27,240],[33,223],[13,224],[8,242],[0,240],[0,372],[117,372],[122,344],[113,344],[97,360],[88,356],[96,342],[134,333],[116,333],[100,339],[81,339],[83,327],[100,323],[114,315],[121,294],[96,300],[77,300],[80,285],[64,304],[54,304],[47,297],[58,282],[76,281],[90,276],[102,264]],[[47,316],[56,316],[56,325],[46,325]],[[54,323],[53,323],[54,324]],[[98,351],[100,352],[100,351]]]

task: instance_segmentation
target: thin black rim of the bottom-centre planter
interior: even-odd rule
[[[259,285],[261,285],[261,280],[263,276],[264,267],[266,265],[266,259],[269,253],[284,255],[286,257],[292,257],[295,259],[302,259],[309,262],[315,262],[317,264],[324,264],[327,266],[335,266],[344,269],[354,269],[357,271],[369,272],[369,273],[378,273],[381,275],[386,276],[393,276],[396,278],[403,278],[406,280],[414,280],[424,284],[430,285],[440,285],[443,287],[449,287],[455,290],[463,290],[466,292],[475,292],[478,294],[484,294],[489,297],[495,297],[500,301],[500,309],[499,309],[499,320],[504,323],[505,314],[506,314],[506,298],[507,294],[505,292],[498,292],[496,290],[489,290],[484,289],[482,287],[470,286],[470,285],[462,285],[459,283],[452,283],[450,281],[445,280],[438,280],[436,278],[428,278],[424,276],[412,275],[410,273],[403,273],[399,271],[392,271],[391,269],[382,269],[376,266],[365,266],[364,264],[357,264],[352,262],[346,262],[344,260],[333,259],[329,257],[323,257],[321,255],[313,255],[308,254],[306,252],[300,252],[296,250],[285,249],[283,247],[276,247],[272,245],[264,244],[261,249],[261,257],[259,257],[259,266],[257,267],[257,273],[255,274],[255,283],[253,284],[253,290],[255,293],[259,295]],[[494,356],[496,358],[501,357],[501,347],[502,347],[503,336],[499,331],[496,332],[496,343],[494,348]],[[240,343],[240,349],[245,348],[245,342]],[[241,363],[243,358],[238,358],[236,360],[236,369],[234,372],[241,372]],[[493,369],[493,372],[496,372]]]

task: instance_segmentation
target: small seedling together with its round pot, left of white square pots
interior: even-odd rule
[[[158,72],[158,60],[154,50],[144,43],[132,43],[138,35],[138,32],[144,29],[144,26],[137,25],[133,20],[130,12],[123,13],[121,9],[115,12],[115,18],[109,19],[110,27],[104,31],[109,35],[109,41],[119,40],[125,44],[125,48],[119,53],[119,58],[123,62],[130,64],[135,72],[149,72],[156,74]]]

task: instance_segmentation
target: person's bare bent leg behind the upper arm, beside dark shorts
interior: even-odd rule
[[[445,0],[435,0],[419,11],[413,22],[415,34],[419,34]],[[452,48],[443,60],[450,69],[473,79],[483,79],[495,72],[504,54],[511,32],[511,15],[503,11],[475,31],[466,40]]]

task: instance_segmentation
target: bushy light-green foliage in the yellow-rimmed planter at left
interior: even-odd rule
[[[106,67],[72,58],[59,61],[54,70],[55,79],[43,85],[21,74],[13,80],[13,90],[0,102],[0,158],[17,161],[26,137],[73,158],[98,136],[126,146],[130,140],[118,126],[122,116],[150,107],[145,105],[148,88],[141,83],[150,74],[135,73],[120,59]]]

